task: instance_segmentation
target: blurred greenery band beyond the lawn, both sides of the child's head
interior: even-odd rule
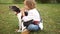
[[[24,0],[0,0],[0,3],[23,3]],[[36,0],[37,3],[60,3],[60,0]]]

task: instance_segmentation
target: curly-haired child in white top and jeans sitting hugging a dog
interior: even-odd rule
[[[41,17],[38,13],[38,10],[36,9],[35,0],[25,0],[24,5],[25,8],[21,11],[23,16],[22,20],[25,22],[24,25],[29,23],[27,21],[33,20],[31,24],[25,25],[27,27],[26,29],[28,31],[37,31],[39,29],[43,30],[43,23],[41,23]],[[25,16],[25,10],[27,10],[28,16]]]

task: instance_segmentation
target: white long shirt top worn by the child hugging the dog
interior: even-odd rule
[[[40,15],[39,15],[39,12],[37,11],[36,8],[34,9],[31,9],[28,12],[28,16],[24,16],[22,18],[23,21],[29,21],[29,20],[34,20],[34,21],[40,21]]]

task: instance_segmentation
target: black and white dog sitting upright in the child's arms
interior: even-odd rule
[[[17,17],[19,19],[19,30],[23,31],[26,27],[23,25],[23,22],[21,20],[22,19],[21,10],[18,7],[16,7],[16,6],[9,6],[9,8],[12,11],[16,12],[16,15],[17,15]],[[24,12],[24,13],[25,13],[25,16],[28,15],[27,12]]]

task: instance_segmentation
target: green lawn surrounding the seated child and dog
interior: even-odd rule
[[[18,19],[14,12],[9,10],[10,5],[23,4],[0,4],[0,34],[20,34],[15,32],[18,26]],[[44,30],[31,32],[31,34],[60,34],[60,4],[37,4],[44,22]]]

